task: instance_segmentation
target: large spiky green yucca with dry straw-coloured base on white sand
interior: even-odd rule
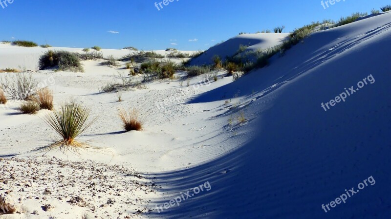
[[[89,108],[71,101],[63,103],[60,110],[54,111],[53,114],[46,115],[45,122],[62,137],[51,146],[85,147],[86,143],[75,139],[96,120],[92,119],[87,122],[89,113]]]

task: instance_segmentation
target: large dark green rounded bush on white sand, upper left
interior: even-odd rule
[[[63,71],[83,72],[84,69],[78,56],[78,54],[68,51],[49,50],[40,57],[38,66],[40,69],[58,66],[59,70]]]

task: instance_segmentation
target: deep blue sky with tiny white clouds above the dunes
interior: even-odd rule
[[[341,0],[324,9],[320,0],[174,0],[158,10],[155,2],[14,0],[4,8],[0,5],[0,40],[80,48],[203,50],[239,32],[273,30],[278,25],[289,32],[311,21],[338,20],[391,3]]]

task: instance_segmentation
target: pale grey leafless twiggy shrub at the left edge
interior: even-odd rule
[[[6,75],[0,80],[0,88],[12,99],[26,100],[37,91],[38,82],[31,74],[18,73],[10,77]]]

